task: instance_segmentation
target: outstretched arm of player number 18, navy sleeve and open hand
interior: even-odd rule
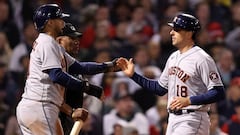
[[[167,93],[167,89],[162,87],[158,81],[145,78],[136,72],[134,72],[134,64],[132,59],[129,61],[125,58],[119,58],[117,65],[122,69],[124,74],[134,80],[137,84],[142,86],[144,89],[153,92],[159,96],[163,96]]]

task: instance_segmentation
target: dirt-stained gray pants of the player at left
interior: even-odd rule
[[[59,108],[48,102],[22,99],[17,106],[17,120],[23,135],[58,135],[62,127]]]

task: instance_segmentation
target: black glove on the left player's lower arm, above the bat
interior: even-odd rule
[[[83,91],[88,95],[92,95],[100,99],[103,93],[103,88],[97,85],[93,85],[89,83],[87,80],[84,80],[84,82],[85,82],[85,86]]]

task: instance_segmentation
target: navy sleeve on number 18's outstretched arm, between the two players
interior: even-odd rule
[[[159,85],[158,81],[147,79],[143,76],[140,76],[137,73],[134,73],[131,77],[137,84],[142,86],[144,89],[149,90],[159,96],[165,95],[168,91]]]

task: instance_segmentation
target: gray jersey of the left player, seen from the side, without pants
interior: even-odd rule
[[[62,68],[66,71],[74,61],[74,58],[68,55],[52,37],[41,33],[31,52],[29,75],[22,97],[61,105],[64,87],[53,83],[44,71],[52,68]]]

